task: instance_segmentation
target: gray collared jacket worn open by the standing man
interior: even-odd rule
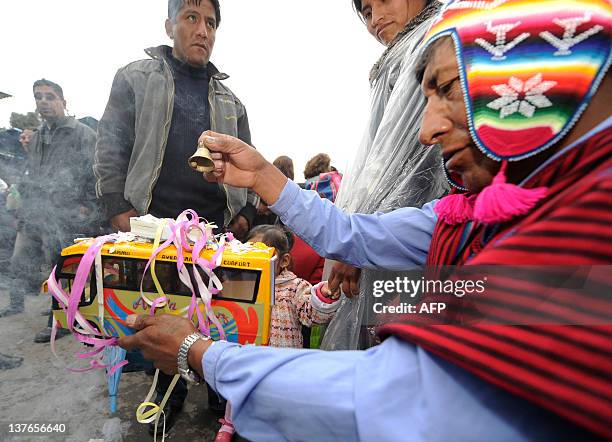
[[[170,131],[174,107],[172,71],[163,56],[163,46],[145,52],[151,59],[131,63],[115,75],[109,102],[98,126],[94,161],[96,193],[109,219],[132,208],[141,215],[147,213]],[[251,144],[246,109],[222,83],[228,75],[220,73],[212,63],[208,68],[211,130]],[[252,192],[220,186],[227,197],[225,225],[247,202],[257,207],[258,198]]]

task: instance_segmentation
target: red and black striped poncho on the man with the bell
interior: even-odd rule
[[[497,226],[436,226],[432,268],[516,269],[489,274],[477,316],[470,316],[466,296],[448,313],[450,323],[461,325],[422,326],[407,318],[379,334],[415,343],[612,438],[612,128],[557,156],[525,185],[536,186],[550,192],[526,216]],[[576,299],[583,271],[594,288]],[[547,273],[566,284],[551,288]],[[460,320],[453,308],[463,309]]]

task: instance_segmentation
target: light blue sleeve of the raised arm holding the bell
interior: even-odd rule
[[[405,270],[425,263],[437,201],[389,213],[348,214],[288,181],[270,209],[315,251],[359,268]]]

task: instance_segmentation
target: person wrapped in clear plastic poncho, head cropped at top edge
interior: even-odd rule
[[[448,191],[442,159],[417,136],[425,102],[412,71],[420,44],[434,21],[438,0],[353,0],[367,31],[386,49],[370,71],[370,121],[361,146],[346,171],[338,207],[353,213],[389,212],[420,207]],[[365,327],[375,279],[393,279],[328,260],[325,279],[346,294],[327,327],[321,348],[368,348],[378,342]],[[352,297],[352,298],[351,298]]]

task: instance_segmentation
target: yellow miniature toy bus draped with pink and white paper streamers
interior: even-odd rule
[[[92,241],[86,240],[62,251],[56,268],[55,278],[63,289],[70,293],[81,258]],[[92,266],[79,303],[79,311],[98,330],[109,336],[124,336],[132,333],[125,325],[125,318],[131,314],[150,314],[150,306],[140,294],[149,300],[159,297],[147,262],[153,253],[153,244],[147,242],[125,242],[105,244],[101,250],[102,292],[100,300],[96,266]],[[201,256],[210,260],[214,252],[205,249]],[[194,266],[189,252],[184,252],[185,265],[192,285]],[[159,284],[168,297],[165,307],[156,309],[155,314],[187,316],[191,303],[191,291],[179,279],[177,253],[169,246],[157,255],[155,273]],[[213,295],[212,307],[223,326],[225,339],[241,344],[267,345],[270,336],[270,312],[274,304],[274,249],[264,244],[253,244],[240,253],[230,249],[224,251],[221,265],[214,273],[223,284],[223,289]],[[208,276],[196,267],[205,284]],[[143,279],[144,274],[144,279]],[[103,320],[100,306],[104,306]],[[204,307],[200,303],[204,315]],[[53,315],[60,326],[66,328],[66,314],[53,299]],[[194,315],[195,317],[195,315]],[[219,331],[211,323],[211,336],[219,339]]]

